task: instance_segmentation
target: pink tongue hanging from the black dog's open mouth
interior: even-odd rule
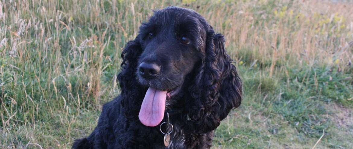
[[[146,126],[157,126],[161,123],[166,106],[167,91],[148,88],[142,101],[138,118]]]

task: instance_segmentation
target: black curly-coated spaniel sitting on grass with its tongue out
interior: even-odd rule
[[[155,11],[121,54],[121,95],[72,148],[210,148],[213,130],[241,103],[241,81],[224,41],[193,10]],[[171,132],[170,141],[161,131]]]

